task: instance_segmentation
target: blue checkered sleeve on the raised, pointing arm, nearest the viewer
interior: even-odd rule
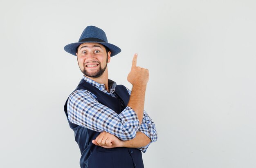
[[[86,90],[77,90],[70,95],[67,114],[74,124],[97,132],[108,132],[123,141],[133,139],[139,129],[139,119],[132,108],[127,106],[117,114]]]

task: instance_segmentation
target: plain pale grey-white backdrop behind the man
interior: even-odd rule
[[[66,44],[88,25],[150,71],[145,168],[256,167],[255,0],[1,0],[0,167],[79,168],[63,106],[82,78]],[[99,158],[100,160],[100,158]]]

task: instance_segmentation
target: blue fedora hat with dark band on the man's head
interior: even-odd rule
[[[121,49],[114,44],[108,43],[108,39],[106,33],[95,26],[88,26],[84,29],[83,33],[81,34],[79,41],[71,44],[67,44],[64,47],[64,50],[68,53],[76,56],[76,49],[80,44],[85,42],[96,42],[102,44],[103,46],[108,47],[111,52],[111,57],[117,55],[121,52]]]

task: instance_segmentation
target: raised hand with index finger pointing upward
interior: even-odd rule
[[[146,85],[148,83],[149,71],[148,69],[137,66],[137,56],[137,53],[135,53],[133,56],[132,68],[127,76],[127,80],[132,85]]]

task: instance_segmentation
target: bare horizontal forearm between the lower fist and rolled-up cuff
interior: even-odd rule
[[[150,143],[149,137],[147,137],[144,133],[137,132],[136,137],[129,141],[123,142],[123,147],[126,148],[140,148],[146,146]]]

